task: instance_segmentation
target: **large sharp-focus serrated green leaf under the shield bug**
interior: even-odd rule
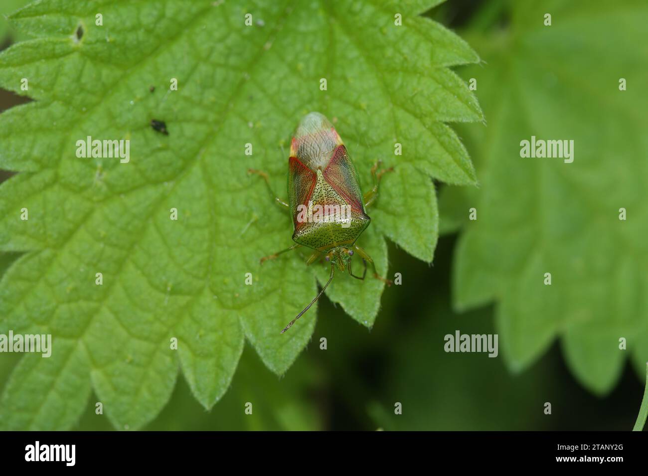
[[[308,111],[334,121],[363,183],[376,159],[396,167],[359,242],[378,271],[387,271],[385,237],[431,262],[430,177],[475,183],[445,122],[482,119],[448,69],[476,54],[417,16],[437,3],[52,0],[17,12],[14,25],[32,40],[0,54],[0,85],[25,94],[26,77],[36,101],[0,115],[0,167],[20,172],[0,186],[0,251],[25,252],[0,282],[0,332],[51,333],[54,350],[14,368],[0,425],[69,428],[94,391],[111,424],[137,429],[170,398],[178,367],[209,409],[246,339],[286,372],[315,310],[279,330],[316,294],[319,268],[296,253],[259,266],[290,244],[291,225],[246,170],[268,170],[283,191],[286,145]],[[77,158],[87,136],[130,140],[130,161]],[[371,326],[382,286],[340,278],[330,299]]]

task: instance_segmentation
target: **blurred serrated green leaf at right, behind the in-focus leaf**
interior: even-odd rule
[[[492,12],[510,23],[486,28]],[[561,337],[573,374],[598,394],[615,385],[626,352],[642,376],[648,360],[647,16],[645,1],[489,3],[467,36],[485,65],[461,72],[478,80],[488,118],[465,130],[480,188],[441,199],[443,228],[463,227],[457,310],[496,301],[514,370]],[[520,157],[531,135],[573,139],[573,163]],[[469,207],[478,220],[467,220]]]

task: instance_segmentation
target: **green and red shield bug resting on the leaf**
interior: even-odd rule
[[[373,267],[374,277],[383,280],[388,286],[391,284],[391,281],[378,275],[371,257],[356,244],[356,240],[371,221],[365,210],[378,197],[380,178],[385,172],[393,170],[388,168],[377,172],[379,166],[380,161],[371,168],[373,188],[363,195],[358,172],[344,142],[329,120],[320,113],[313,112],[305,115],[299,122],[290,143],[288,203],[275,198],[279,205],[292,214],[292,239],[295,244],[279,253],[261,258],[261,263],[286,251],[305,246],[314,250],[307,264],[323,257],[330,264],[330,277],[315,299],[284,327],[281,334],[319,299],[332,281],[336,267],[342,272],[348,269],[351,276],[362,280],[367,274],[369,262]],[[254,169],[250,169],[249,172],[259,174],[270,187],[265,172]],[[272,188],[270,190],[272,192]],[[364,263],[362,277],[354,275],[351,271],[351,256],[356,253]]]

